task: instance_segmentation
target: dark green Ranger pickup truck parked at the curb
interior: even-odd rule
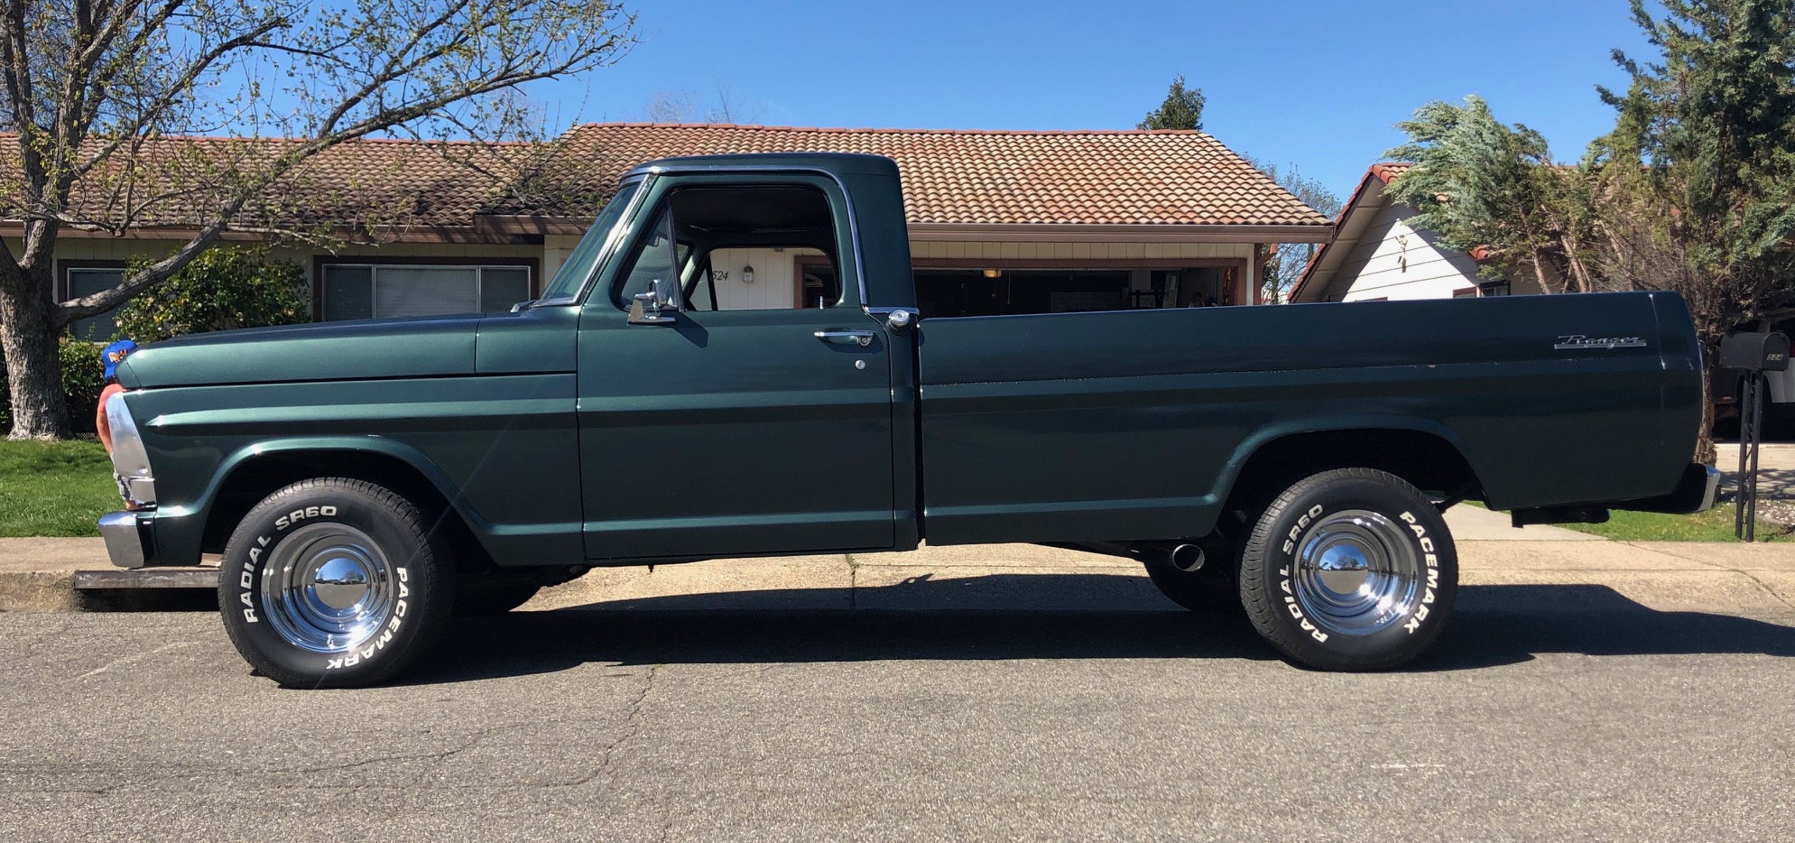
[[[722,249],[811,256],[720,294]],[[239,330],[118,369],[117,565],[223,552],[242,656],[303,687],[596,565],[1029,542],[1136,558],[1289,660],[1438,639],[1441,511],[1698,511],[1702,361],[1673,294],[939,316],[898,169],[628,172],[510,314]]]

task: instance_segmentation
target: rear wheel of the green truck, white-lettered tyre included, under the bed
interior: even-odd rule
[[[1271,502],[1240,560],[1253,626],[1323,671],[1395,667],[1440,637],[1458,552],[1440,509],[1371,468],[1307,477]]]

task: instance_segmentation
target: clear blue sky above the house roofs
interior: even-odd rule
[[[725,84],[752,122],[1127,129],[1174,74],[1204,129],[1344,196],[1432,99],[1481,93],[1562,160],[1612,126],[1594,84],[1646,56],[1624,0],[639,2],[643,43],[537,88],[553,122],[641,120],[657,90]]]

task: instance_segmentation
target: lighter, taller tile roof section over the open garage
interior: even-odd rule
[[[589,124],[565,154],[594,185],[655,160],[727,152],[894,158],[910,222],[1327,226],[1201,131],[804,129]]]

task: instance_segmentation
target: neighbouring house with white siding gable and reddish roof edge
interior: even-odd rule
[[[1454,249],[1409,221],[1414,208],[1384,188],[1407,163],[1373,163],[1334,219],[1334,237],[1310,256],[1291,301],[1388,301],[1542,292],[1533,274],[1483,278],[1484,249]]]

